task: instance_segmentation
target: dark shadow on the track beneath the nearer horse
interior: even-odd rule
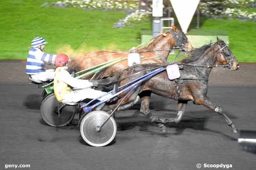
[[[174,110],[169,110],[169,113],[173,113]],[[191,115],[193,115],[193,117],[191,117]],[[227,114],[230,115],[230,114]],[[173,114],[171,114],[171,116],[173,116]],[[174,129],[174,132],[168,132],[168,133],[163,133],[161,132],[161,130],[158,130],[158,126],[150,121],[147,120],[137,120],[137,121],[126,121],[126,122],[117,122],[117,130],[118,131],[125,131],[125,130],[131,130],[133,128],[135,128],[136,126],[138,126],[140,128],[140,131],[143,132],[150,132],[151,134],[156,134],[156,135],[164,135],[164,136],[170,136],[170,135],[182,135],[182,133],[184,132],[184,130],[186,129],[193,129],[196,131],[201,131],[200,133],[215,133],[218,135],[222,135],[225,138],[228,138],[232,141],[237,141],[237,138],[232,137],[230,135],[227,135],[223,132],[217,131],[217,130],[213,130],[213,129],[209,129],[206,128],[207,122],[209,121],[209,119],[211,117],[214,117],[214,119],[219,119],[220,121],[224,120],[221,118],[221,116],[211,110],[202,110],[202,111],[198,111],[198,112],[187,112],[187,115],[184,116],[184,118],[182,119],[182,121],[180,121],[179,123],[166,123],[165,126],[169,129]],[[237,119],[236,116],[234,115],[230,115],[230,117],[232,117],[232,119]],[[117,117],[117,120],[125,120],[127,118],[132,118],[132,116],[128,116],[128,117]],[[136,117],[133,117],[136,118]],[[152,128],[149,127],[156,127],[154,130],[151,130]],[[168,131],[168,130],[167,130]],[[170,131],[170,130],[169,130]],[[231,132],[230,132],[231,134]]]

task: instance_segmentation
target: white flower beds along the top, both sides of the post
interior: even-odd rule
[[[242,9],[255,7],[256,0],[201,0],[199,7],[201,15],[211,18],[235,18],[240,20],[252,20],[256,22],[256,12]],[[113,25],[113,28],[133,26],[141,22],[147,22],[151,15],[136,11],[139,3],[128,3],[124,0],[63,0],[45,3],[44,6],[80,7],[83,9],[105,9],[128,12],[125,18]],[[132,13],[131,13],[132,12]]]

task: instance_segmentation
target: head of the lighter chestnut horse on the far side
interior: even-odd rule
[[[181,30],[176,28],[173,24],[171,25],[172,29],[170,29],[170,33],[174,39],[175,46],[180,47],[182,50],[191,51],[193,49],[192,44],[187,39],[185,33]]]

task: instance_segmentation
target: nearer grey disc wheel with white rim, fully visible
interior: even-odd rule
[[[111,143],[117,133],[117,124],[113,117],[99,129],[100,125],[109,117],[107,112],[93,111],[83,117],[80,132],[83,140],[91,146],[106,146]]]

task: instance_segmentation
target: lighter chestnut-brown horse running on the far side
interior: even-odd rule
[[[174,25],[172,29],[161,33],[147,45],[147,47],[135,49],[134,52],[139,53],[141,64],[165,62],[172,48],[181,48],[191,51],[193,46],[187,39],[186,35]],[[87,69],[103,62],[113,60],[119,57],[127,57],[129,52],[100,50],[85,53],[83,56],[72,58],[68,64],[69,69],[80,71]],[[122,60],[112,66],[109,66],[101,75],[94,77],[100,79],[102,77],[112,77],[123,69],[128,68],[127,60]],[[89,79],[92,75],[83,77],[82,79]]]

